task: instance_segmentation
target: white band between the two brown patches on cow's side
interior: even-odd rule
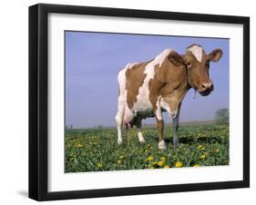
[[[164,60],[171,51],[172,50],[170,49],[164,50],[146,66],[144,73],[146,73],[147,75],[146,78],[144,79],[142,86],[138,89],[137,102],[133,106],[134,110],[138,112],[152,110],[153,106],[149,101],[148,83],[151,79],[154,78],[156,65],[159,64],[159,66],[161,66],[161,64],[164,62]]]

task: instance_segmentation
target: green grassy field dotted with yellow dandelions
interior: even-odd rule
[[[129,130],[117,144],[116,129],[67,130],[65,171],[114,171],[200,167],[229,164],[229,125],[202,124],[179,127],[179,146],[172,145],[171,127],[165,129],[167,150],[158,148],[158,131],[144,128],[146,142]]]

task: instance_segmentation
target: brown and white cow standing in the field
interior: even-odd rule
[[[200,44],[191,44],[186,54],[166,49],[148,62],[128,63],[118,72],[118,144],[122,143],[123,125],[136,126],[138,141],[145,142],[141,121],[155,117],[159,149],[166,149],[162,112],[168,112],[172,118],[173,144],[178,145],[181,102],[191,88],[202,96],[213,91],[209,76],[210,62],[218,62],[221,56],[220,49],[205,54]]]

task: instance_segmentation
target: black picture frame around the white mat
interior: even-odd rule
[[[47,16],[50,13],[166,19],[243,26],[243,180],[101,190],[47,190]],[[250,187],[250,18],[76,5],[29,7],[29,198],[67,200]]]

